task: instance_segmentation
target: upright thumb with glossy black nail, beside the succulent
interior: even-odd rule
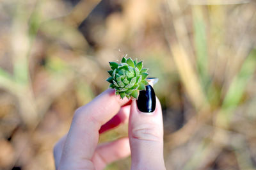
[[[165,169],[161,104],[152,86],[133,100],[129,117],[131,169]]]

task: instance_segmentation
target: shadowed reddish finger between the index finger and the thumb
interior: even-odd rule
[[[130,109],[131,105],[121,107],[120,111],[111,120],[100,127],[99,133],[101,134],[117,127],[121,123],[125,123],[129,119]]]

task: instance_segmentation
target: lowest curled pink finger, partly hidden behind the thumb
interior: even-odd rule
[[[106,164],[128,157],[131,154],[128,137],[100,144],[93,155],[95,169],[104,169]]]

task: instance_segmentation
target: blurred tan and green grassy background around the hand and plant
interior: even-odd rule
[[[159,78],[167,169],[256,169],[255,26],[253,0],[2,0],[0,169],[54,169],[74,111],[125,54]]]

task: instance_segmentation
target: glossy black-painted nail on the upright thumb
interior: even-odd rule
[[[141,112],[154,112],[156,109],[156,95],[152,86],[147,85],[146,90],[141,90],[137,100]]]

